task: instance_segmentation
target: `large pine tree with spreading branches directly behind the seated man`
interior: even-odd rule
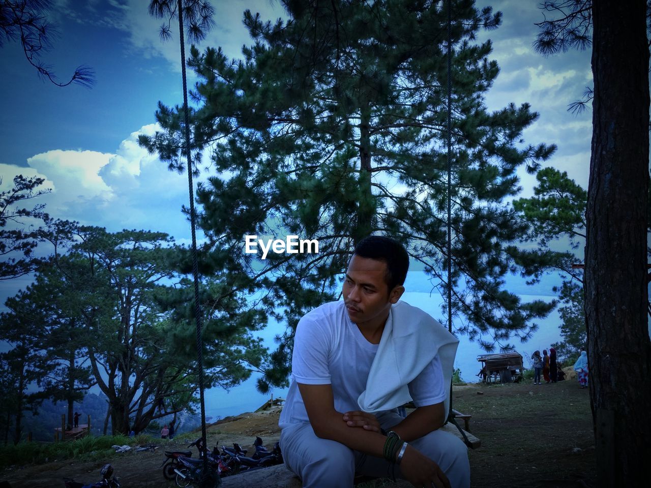
[[[193,90],[193,151],[210,150],[215,176],[198,191],[201,226],[215,271],[247,273],[289,325],[272,355],[286,377],[293,330],[307,310],[336,299],[337,277],[371,232],[402,241],[447,286],[454,269],[460,331],[486,349],[526,338],[555,303],[522,303],[503,288],[507,273],[535,264],[514,243],[527,225],[506,200],[520,191],[516,170],[535,169],[555,146],[523,145],[537,118],[528,104],[490,113],[484,92],[499,72],[491,45],[473,44],[500,14],[452,2],[452,255],[445,249],[447,11],[413,1],[283,2],[290,20],[247,11],[255,44],[242,61],[221,49],[191,50],[201,81]],[[140,142],[180,168],[180,115],[159,104],[164,130]],[[244,236],[317,239],[319,254],[256,259]],[[278,312],[283,310],[283,312]],[[264,389],[264,383],[260,385]]]

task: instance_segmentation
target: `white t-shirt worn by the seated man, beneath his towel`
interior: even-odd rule
[[[393,327],[400,327],[400,324]],[[368,372],[377,351],[378,344],[368,342],[350,320],[343,301],[326,303],[305,314],[296,327],[292,383],[279,426],[309,422],[296,383],[331,385],[337,412],[359,410],[357,398],[366,390]],[[445,400],[438,355],[408,386],[417,407]]]

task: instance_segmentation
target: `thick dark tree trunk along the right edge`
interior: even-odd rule
[[[646,318],[649,88],[644,0],[594,0],[592,157],[585,311],[597,474],[603,487],[651,477]]]

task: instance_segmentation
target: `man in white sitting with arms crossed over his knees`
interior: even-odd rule
[[[279,426],[284,463],[303,487],[352,487],[355,473],[417,488],[470,484],[465,445],[437,430],[458,341],[399,302],[408,267],[400,244],[369,236],[348,264],[343,301],[299,321]],[[396,407],[409,396],[417,408],[402,418]]]

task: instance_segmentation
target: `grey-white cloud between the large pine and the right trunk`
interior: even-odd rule
[[[592,85],[590,52],[570,50],[544,57],[533,49],[538,33],[535,23],[544,20],[537,3],[520,0],[488,2],[479,0],[477,7],[492,5],[503,13],[503,24],[493,31],[481,31],[479,42],[490,39],[500,74],[486,94],[486,105],[497,110],[513,102],[529,103],[538,120],[523,131],[524,144],[557,144],[557,152],[543,167],[567,171],[579,185],[587,188],[590,163],[592,120],[589,111],[574,115],[568,104],[581,98],[585,87]],[[533,193],[534,175],[518,170],[523,187],[522,197]]]

